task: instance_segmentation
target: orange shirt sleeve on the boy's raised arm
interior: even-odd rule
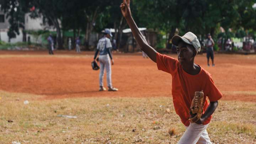
[[[177,71],[178,60],[167,55],[156,53],[156,64],[159,70],[174,74]]]

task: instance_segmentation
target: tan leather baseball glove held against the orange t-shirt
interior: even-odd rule
[[[203,114],[203,105],[204,105],[204,93],[203,91],[196,91],[194,98],[190,106],[190,123],[197,122]]]

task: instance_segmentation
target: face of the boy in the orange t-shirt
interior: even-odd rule
[[[180,42],[177,47],[178,60],[181,65],[189,64],[194,58],[194,48],[193,46]]]

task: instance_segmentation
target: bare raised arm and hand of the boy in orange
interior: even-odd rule
[[[130,11],[130,0],[123,0],[123,3],[120,5],[122,14],[124,18],[132,30],[133,36],[135,37],[136,41],[138,42],[140,49],[143,50],[148,57],[156,63],[156,50],[149,46],[148,42],[144,38],[143,34],[139,31],[135,21],[133,20],[131,11]]]

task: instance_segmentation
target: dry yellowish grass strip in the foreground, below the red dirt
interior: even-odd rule
[[[0,97],[0,143],[177,143],[185,130],[170,97],[38,101],[4,91]],[[208,127],[212,142],[256,143],[255,110],[255,102],[220,101]]]

